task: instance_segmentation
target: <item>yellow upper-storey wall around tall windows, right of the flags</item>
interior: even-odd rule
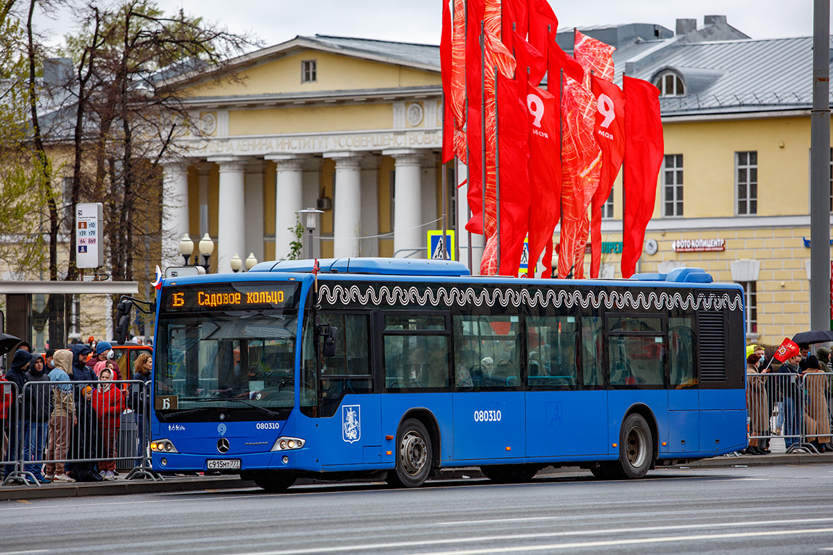
[[[683,155],[686,218],[736,216],[736,151],[758,153],[758,216],[808,213],[809,117],[669,122],[663,131],[666,154]],[[655,218],[662,184],[660,172]]]

